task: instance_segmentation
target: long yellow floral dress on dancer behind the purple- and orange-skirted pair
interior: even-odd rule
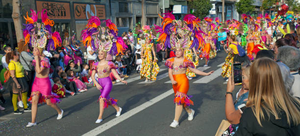
[[[144,48],[144,56],[145,58],[142,58],[142,68],[141,68],[141,78],[147,78],[149,80],[155,81],[156,76],[159,72],[159,67],[156,62],[154,62],[152,59],[152,46],[153,43],[150,44],[142,44]]]

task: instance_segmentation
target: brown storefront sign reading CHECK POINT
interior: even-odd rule
[[[71,19],[70,3],[61,1],[36,1],[37,11],[47,9],[49,19]],[[39,16],[41,19],[41,16]]]

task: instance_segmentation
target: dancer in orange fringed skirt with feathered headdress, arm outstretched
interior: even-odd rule
[[[176,57],[167,59],[166,66],[169,68],[169,78],[172,81],[175,93],[175,118],[170,127],[176,128],[179,126],[179,117],[182,109],[186,109],[189,114],[188,120],[193,120],[195,111],[189,109],[188,106],[193,105],[190,96],[187,95],[189,89],[189,81],[185,75],[186,70],[189,69],[198,75],[210,75],[213,71],[205,73],[195,68],[191,60],[184,58],[183,53],[185,49],[189,49],[189,43],[193,39],[191,48],[198,49],[199,42],[202,42],[199,28],[199,19],[194,15],[186,15],[184,21],[175,20],[171,13],[164,14],[163,33],[160,34],[158,40],[163,41],[165,47],[175,50]],[[167,26],[167,27],[166,27]],[[165,33],[167,32],[167,33]],[[190,35],[193,35],[192,37]],[[170,40],[167,40],[170,39]]]

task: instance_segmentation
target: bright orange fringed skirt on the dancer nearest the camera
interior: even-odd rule
[[[177,84],[173,84],[173,90],[175,93],[174,103],[177,105],[183,105],[187,107],[194,105],[194,102],[190,100],[192,96],[188,96],[187,92],[189,90],[189,80],[185,74],[173,75],[174,80]]]

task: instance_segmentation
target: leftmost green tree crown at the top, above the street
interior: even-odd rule
[[[213,7],[210,0],[192,0],[189,5],[194,9],[193,15],[200,19],[209,15],[209,10]]]

